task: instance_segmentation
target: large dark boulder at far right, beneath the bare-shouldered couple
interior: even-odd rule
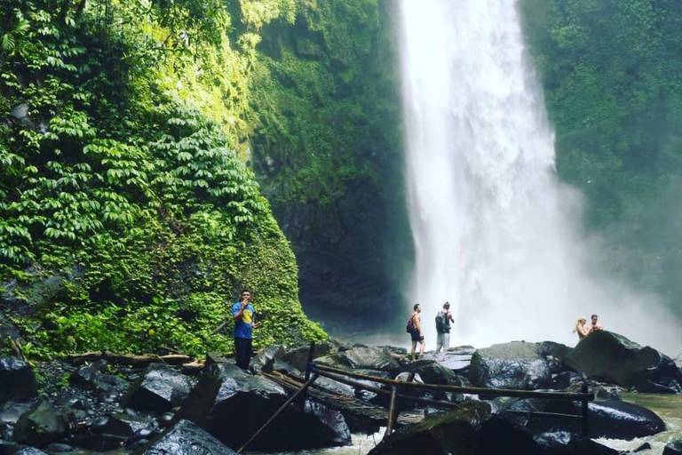
[[[669,387],[655,382],[663,376],[672,375],[682,382],[670,357],[653,347],[641,347],[612,331],[595,331],[582,339],[567,355],[566,363],[590,379],[635,387],[645,393],[666,392]],[[674,390],[669,393],[674,393]]]

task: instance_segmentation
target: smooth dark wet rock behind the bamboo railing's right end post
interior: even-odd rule
[[[581,405],[577,402],[549,402],[542,411],[580,415]],[[622,401],[589,403],[588,422],[591,438],[631,440],[665,430],[665,424],[654,411]],[[531,419],[527,427],[534,433],[569,431],[580,434],[581,425],[580,420]]]

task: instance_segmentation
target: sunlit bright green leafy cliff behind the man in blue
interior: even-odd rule
[[[4,2],[4,339],[29,355],[228,352],[212,331],[242,286],[270,315],[257,346],[326,336],[244,165],[258,24],[294,7],[242,1],[234,26],[218,0]]]

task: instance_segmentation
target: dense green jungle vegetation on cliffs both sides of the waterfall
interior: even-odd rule
[[[519,6],[584,227],[682,313],[682,5]],[[396,7],[0,5],[4,339],[230,351],[211,332],[242,286],[271,316],[258,346],[325,337],[304,308],[390,325],[411,257]]]

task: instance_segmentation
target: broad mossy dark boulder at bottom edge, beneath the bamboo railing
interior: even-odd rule
[[[388,435],[369,451],[370,455],[462,455],[543,453],[533,437],[501,419],[487,402],[469,401],[448,411],[427,415],[410,427]]]

